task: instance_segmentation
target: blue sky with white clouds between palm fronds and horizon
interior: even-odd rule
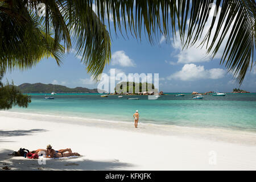
[[[213,11],[209,16],[213,16]],[[210,21],[205,26],[209,27],[209,25]],[[159,35],[159,42],[150,44],[143,34],[141,41],[130,34],[128,36],[129,39],[126,36],[123,38],[119,33],[115,36],[112,30],[112,60],[106,65],[104,73],[110,75],[112,68],[116,73],[127,76],[129,73],[152,73],[153,75],[159,73],[159,90],[166,93],[232,92],[233,88],[238,87],[249,92],[256,92],[256,66],[247,73],[242,85],[239,86],[224,65],[220,65],[225,45],[220,47],[214,59],[209,59],[205,47],[197,48],[197,44],[183,50],[180,40],[177,39],[170,44]],[[227,39],[224,39],[225,41]],[[255,49],[254,53],[256,53]],[[79,55],[71,51],[65,55],[60,67],[52,58],[43,59],[31,69],[8,71],[5,78],[9,82],[13,81],[15,85],[42,82],[65,85],[69,88],[76,86],[97,88],[98,83],[90,78],[90,74],[86,72],[86,67],[81,64],[80,59]]]

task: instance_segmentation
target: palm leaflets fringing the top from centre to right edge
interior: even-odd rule
[[[225,44],[220,64],[225,64],[241,84],[246,71],[255,63],[255,1],[254,0],[216,0],[216,13],[207,35],[202,35],[205,23],[209,20],[210,5],[213,0],[96,0],[97,14],[102,22],[112,14],[115,32],[130,30],[137,38],[144,31],[149,41],[160,33],[170,40],[170,32],[179,31],[183,48],[197,43],[202,36],[201,45],[206,45],[212,58]],[[162,16],[161,16],[162,15]],[[121,26],[122,24],[122,26]],[[217,26],[216,26],[217,24]],[[217,27],[213,29],[214,25]],[[124,27],[124,28],[122,28]],[[171,30],[171,31],[170,31]],[[231,32],[230,35],[228,33]],[[224,38],[229,41],[224,43]]]

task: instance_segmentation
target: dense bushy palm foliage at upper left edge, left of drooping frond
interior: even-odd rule
[[[23,9],[22,16],[27,22],[0,11],[0,67],[27,69],[50,56],[60,64],[63,46],[56,47],[55,39],[46,33],[34,13]]]

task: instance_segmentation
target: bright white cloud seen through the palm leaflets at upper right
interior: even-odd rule
[[[177,35],[177,40],[175,40],[175,43],[172,45],[172,47],[174,47],[175,49],[177,49],[179,51],[179,53],[177,53],[177,55],[176,55],[176,57],[178,59],[177,63],[187,64],[187,63],[201,63],[201,62],[210,61],[210,55],[207,55],[206,44],[202,47],[202,46],[200,46],[200,43],[202,42],[204,36],[207,35],[207,32],[211,26],[215,6],[216,5],[213,3],[212,9],[210,10],[210,13],[209,13],[208,21],[205,23],[205,27],[204,27],[201,39],[197,40],[197,43],[194,46],[188,47],[187,49],[182,49],[181,48],[181,40],[179,39],[179,35]],[[218,10],[216,22],[218,22],[218,18],[220,17],[219,16],[220,12],[221,12],[221,7]],[[225,22],[224,22],[224,24],[225,24]],[[212,34],[210,35],[209,42],[211,42],[211,40],[213,39],[216,27],[217,27],[217,23],[215,23],[213,26],[213,30],[212,30]],[[214,56],[214,59],[221,58],[222,53],[224,52],[224,49],[225,49],[225,44],[228,41],[229,34],[230,34],[230,30],[227,32],[220,48],[218,49],[217,54]]]

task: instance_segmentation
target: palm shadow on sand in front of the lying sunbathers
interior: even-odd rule
[[[128,169],[134,165],[129,163],[118,162],[118,160],[96,161],[85,159],[85,156],[75,159],[52,159],[42,160],[25,159],[23,157],[9,156],[11,150],[0,151],[0,170],[8,166],[10,170],[118,170]]]

